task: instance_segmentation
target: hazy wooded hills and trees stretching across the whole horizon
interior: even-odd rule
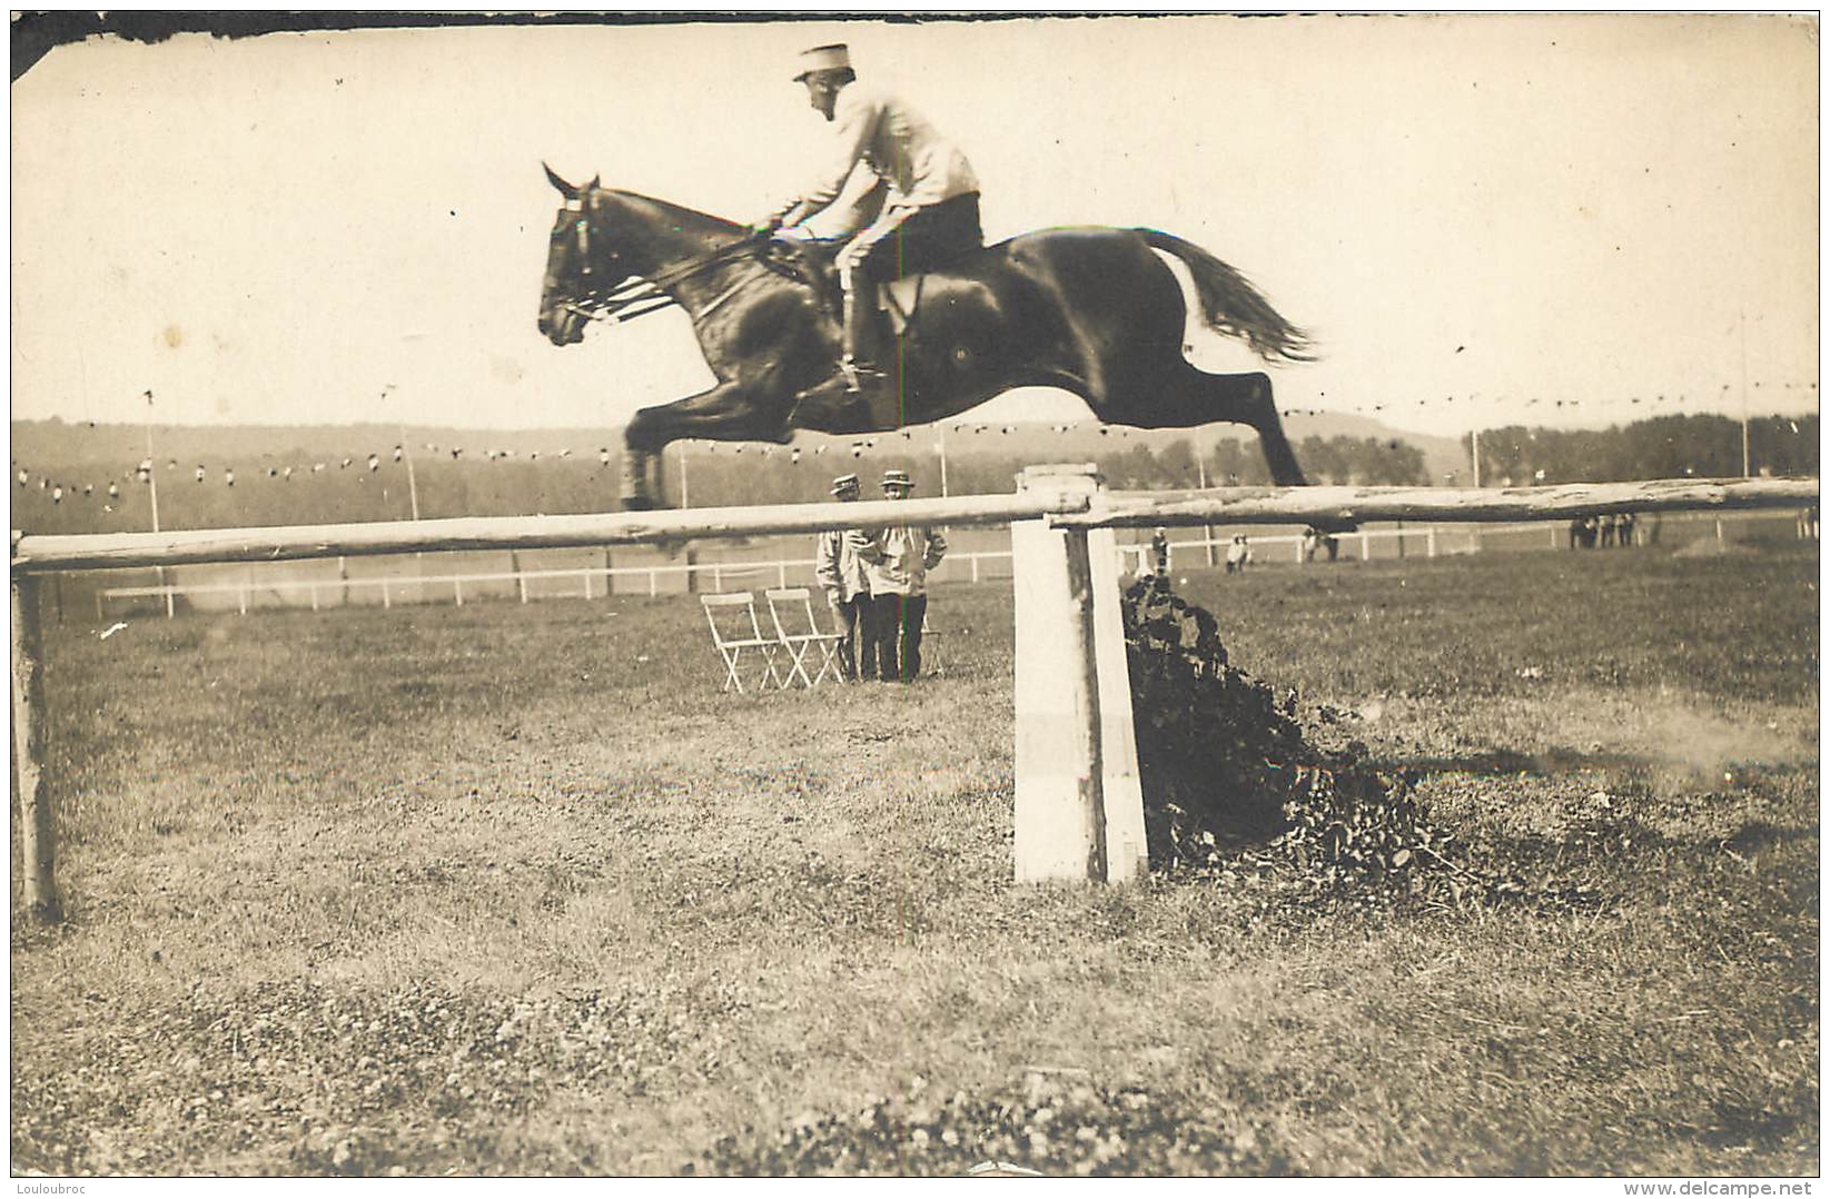
[[[1751,423],[1755,467],[1773,474],[1817,474],[1817,417],[1762,417]],[[825,500],[833,476],[856,472],[866,498],[878,494],[877,481],[889,467],[908,470],[917,496],[941,494],[941,456],[919,437],[880,437],[886,447],[862,454],[829,448],[822,454],[792,454],[787,447],[690,443],[681,469],[679,448],[664,456],[662,494],[670,505],[684,500],[690,507],[807,503]],[[1193,439],[1180,437],[1151,448],[1140,443],[1118,445],[1096,454],[1058,454],[1056,459],[1091,458],[1107,485],[1120,491],[1175,491],[1226,485],[1266,485],[1270,474],[1255,437],[1224,437],[1202,459]],[[1471,439],[1464,437],[1469,450]],[[1471,476],[1431,480],[1424,454],[1415,445],[1387,437],[1303,437],[1296,445],[1297,461],[1312,483],[1330,485],[1468,485]],[[304,450],[280,459],[309,461]],[[1023,467],[1041,461],[1027,450],[953,452],[946,458],[950,494],[1008,494]],[[194,467],[157,467],[159,524],[165,529],[260,527],[296,524],[353,524],[406,520],[412,514],[406,465],[382,458],[377,469],[366,463],[329,465],[324,470],[295,470],[289,478],[269,469],[238,472],[227,483],[225,463],[201,463],[203,481]],[[137,480],[112,480],[117,494],[108,496],[110,480],[62,485],[53,503],[51,491],[40,487],[53,478],[84,478],[90,467],[59,470],[55,463],[37,463],[27,485],[13,485],[13,527],[27,533],[102,533],[145,531],[152,527],[150,489]],[[1543,480],[1537,472],[1543,470]],[[683,480],[684,474],[684,480]],[[1554,430],[1508,427],[1482,430],[1480,480],[1486,485],[1610,481],[1643,478],[1738,476],[1740,423],[1718,416],[1671,416],[1638,421],[1625,428]],[[615,511],[622,483],[617,450],[609,461],[593,456],[512,459],[417,459],[414,469],[419,514],[439,516],[529,516],[536,513]]]

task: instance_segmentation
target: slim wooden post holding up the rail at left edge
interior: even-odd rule
[[[15,545],[18,535],[15,535]],[[38,577],[13,575],[13,783],[18,791],[20,875],[26,908],[51,924],[57,901],[57,837],[44,780],[44,639],[38,630]]]

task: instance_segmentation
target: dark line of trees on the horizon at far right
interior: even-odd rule
[[[1814,476],[1817,437],[1815,414],[1749,421],[1749,467]],[[1462,445],[1473,452],[1471,436],[1462,437]],[[1731,478],[1740,469],[1742,427],[1726,416],[1660,416],[1581,432],[1523,425],[1480,432],[1480,481],[1488,487]]]

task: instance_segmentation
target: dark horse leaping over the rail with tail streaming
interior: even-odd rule
[[[1107,425],[1250,425],[1277,485],[1305,485],[1270,377],[1208,373],[1184,357],[1188,265],[1206,324],[1266,362],[1310,361],[1308,335],[1208,251],[1155,229],[1067,227],[985,247],[922,276],[889,355],[897,386],[867,403],[838,372],[840,324],[818,278],[770,262],[767,240],[705,212],[545,168],[553,221],[540,331],[554,346],[593,319],[670,304],[692,319],[717,384],[637,412],[624,428],[622,507],[653,507],[661,450],[679,439],[792,441],[891,432],[959,416],[1017,386],[1080,395]],[[653,476],[653,478],[651,478]],[[653,485],[651,485],[653,483]]]

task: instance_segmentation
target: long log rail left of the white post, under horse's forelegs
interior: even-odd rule
[[[580,549],[769,533],[818,533],[871,525],[1001,525],[1085,513],[1091,500],[1069,491],[937,500],[864,500],[780,507],[706,507],[576,516],[459,516],[353,525],[187,529],[13,538],[13,571],[81,571],[196,562],[293,562],[452,549]]]

